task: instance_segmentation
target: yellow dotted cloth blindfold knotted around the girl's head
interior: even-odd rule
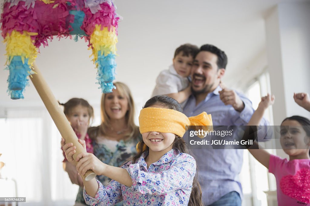
[[[139,126],[140,133],[161,132],[173,133],[183,137],[186,126],[209,126],[213,130],[211,115],[202,112],[197,116],[187,117],[182,112],[173,109],[147,107],[140,111]],[[203,138],[201,136],[200,138]]]

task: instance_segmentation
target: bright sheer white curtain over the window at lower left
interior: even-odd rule
[[[46,109],[8,109],[0,129],[1,177],[16,181],[18,196],[26,197],[20,205],[73,205],[78,186],[63,170],[61,136]]]

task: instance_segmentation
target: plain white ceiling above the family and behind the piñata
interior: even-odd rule
[[[131,88],[138,102],[147,100],[158,73],[168,68],[180,44],[201,46],[211,43],[228,55],[224,81],[232,82],[236,72],[244,71],[265,53],[263,16],[281,0],[170,0],[115,1],[119,22],[117,43],[117,81]],[[0,37],[1,40],[2,37]],[[83,40],[54,39],[40,48],[37,65],[56,99],[82,97],[99,104],[100,90],[95,84],[96,70]],[[5,46],[0,44],[0,62],[5,63]],[[4,66],[2,66],[4,69]],[[9,72],[0,69],[0,107],[42,106],[30,82],[25,99],[7,95]]]

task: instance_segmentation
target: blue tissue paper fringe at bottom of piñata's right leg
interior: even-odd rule
[[[110,93],[116,87],[113,85],[113,80],[115,79],[115,55],[109,53],[108,55],[104,56],[101,55],[101,51],[98,51],[98,59],[96,60],[98,64],[98,72],[96,79],[101,88],[102,93]]]

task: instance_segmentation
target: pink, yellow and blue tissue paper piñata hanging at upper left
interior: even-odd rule
[[[6,43],[8,92],[23,99],[27,77],[38,55],[53,36],[84,37],[92,50],[102,92],[112,92],[119,17],[111,0],[5,0],[1,14]]]

